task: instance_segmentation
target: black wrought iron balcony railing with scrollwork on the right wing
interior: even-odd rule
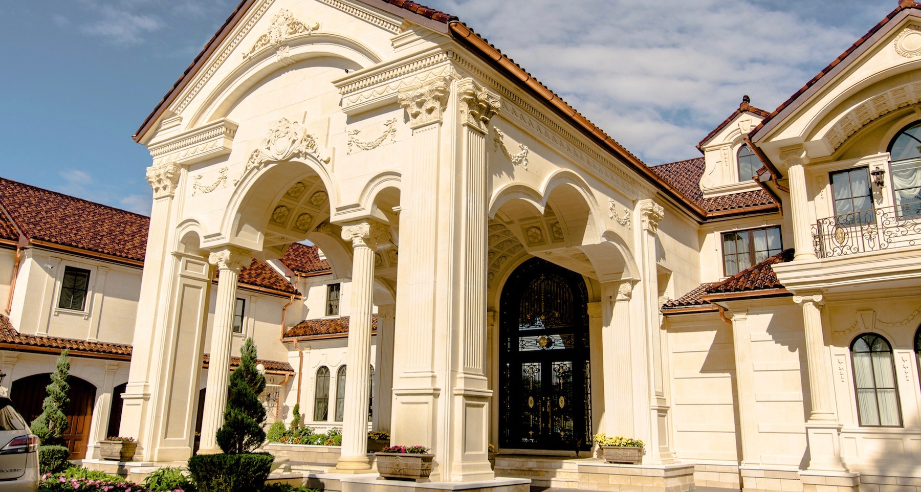
[[[921,203],[820,218],[812,226],[819,258],[921,245]]]

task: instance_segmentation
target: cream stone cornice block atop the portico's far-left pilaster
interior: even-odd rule
[[[154,167],[165,162],[189,166],[204,160],[221,158],[230,154],[230,146],[233,145],[238,126],[236,122],[221,118],[152,143],[147,149],[154,158]]]

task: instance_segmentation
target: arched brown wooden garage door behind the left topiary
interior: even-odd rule
[[[17,381],[13,381],[10,388],[10,399],[16,405],[19,414],[29,424],[41,415],[41,402],[47,392],[45,386],[52,381],[51,374],[35,374]],[[70,427],[61,439],[64,446],[70,450],[71,460],[82,460],[87,457],[89,444],[89,424],[93,420],[93,402],[96,401],[96,386],[88,381],[71,376],[67,380],[70,384],[70,404],[64,410]]]

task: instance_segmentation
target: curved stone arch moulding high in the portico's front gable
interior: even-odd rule
[[[312,59],[332,58],[344,62],[342,68],[360,70],[379,64],[383,58],[360,41],[339,34],[314,32],[289,45],[285,58],[273,53],[241,62],[212,89],[189,118],[193,128],[225,117],[246,97],[276,72]],[[343,73],[344,75],[344,73]]]

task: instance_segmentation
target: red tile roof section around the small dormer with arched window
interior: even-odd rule
[[[756,205],[778,205],[774,197],[765,193],[764,190],[704,198],[704,193],[700,190],[700,179],[704,175],[704,167],[704,158],[689,158],[653,166],[652,170],[707,212]]]

